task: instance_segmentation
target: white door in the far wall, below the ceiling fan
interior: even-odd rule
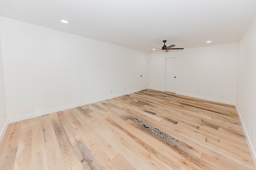
[[[176,57],[165,59],[165,91],[176,93]]]

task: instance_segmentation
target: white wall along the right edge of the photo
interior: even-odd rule
[[[240,40],[238,51],[236,108],[256,163],[256,16]]]

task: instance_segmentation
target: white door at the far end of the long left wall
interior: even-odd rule
[[[140,58],[140,90],[148,89],[148,59]]]

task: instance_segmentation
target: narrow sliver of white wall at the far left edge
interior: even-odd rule
[[[3,60],[2,60],[2,45],[1,45],[1,32],[0,32],[0,142],[2,141],[2,137],[6,131],[7,124],[8,124],[5,97],[6,96],[5,96],[5,88],[4,88],[4,68],[3,68]]]

